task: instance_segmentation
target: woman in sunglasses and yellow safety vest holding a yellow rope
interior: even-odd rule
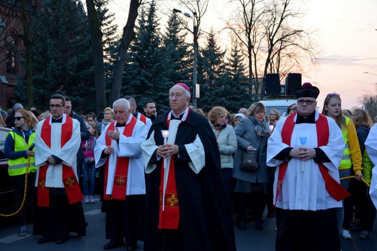
[[[35,132],[30,128],[32,118],[28,111],[18,110],[14,115],[15,127],[8,132],[5,139],[4,156],[8,158],[8,173],[14,186],[15,207],[18,210],[22,205],[25,189],[25,177],[28,169],[28,189],[25,205],[17,214],[20,224],[19,236],[26,235],[26,214],[28,219],[33,218],[33,197],[35,187],[36,167],[34,160]]]

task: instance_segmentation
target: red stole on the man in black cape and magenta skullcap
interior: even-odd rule
[[[190,109],[188,109],[187,116],[189,115],[189,113],[190,113]],[[166,121],[168,123],[168,129],[169,129],[170,127],[169,114],[166,117]],[[179,213],[177,186],[175,182],[174,156],[171,156],[171,159],[170,159],[169,175],[168,175],[168,181],[166,184],[166,191],[165,191],[165,209],[164,211],[162,211],[162,204],[163,204],[162,201],[164,198],[164,177],[165,177],[164,161],[165,159],[163,158],[161,162],[161,174],[160,174],[160,210],[159,210],[158,228],[159,229],[178,229],[180,213]]]

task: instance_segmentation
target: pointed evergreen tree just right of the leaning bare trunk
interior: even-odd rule
[[[137,38],[131,44],[126,60],[121,93],[135,97],[137,105],[148,99],[154,100],[159,108],[168,108],[167,92],[171,87],[165,74],[167,59],[161,47],[162,34],[158,24],[156,3],[149,9],[142,8],[136,29]]]

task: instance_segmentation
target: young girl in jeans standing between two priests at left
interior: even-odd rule
[[[94,148],[98,138],[96,126],[88,123],[90,138],[87,141],[81,141],[85,161],[82,165],[82,188],[84,190],[84,203],[96,203],[93,198],[94,188],[96,186],[96,167],[94,162]],[[90,182],[89,182],[90,181]],[[90,188],[90,189],[89,189]]]

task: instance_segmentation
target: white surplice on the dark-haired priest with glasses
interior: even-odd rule
[[[61,147],[62,125],[66,123],[66,114],[63,115],[62,123],[51,123],[52,116],[47,118],[51,125],[51,148],[49,148],[40,137],[42,125],[45,120],[40,121],[36,126],[35,133],[35,165],[37,166],[35,187],[38,183],[39,168],[46,164],[47,157],[54,155],[62,159],[61,163],[50,164],[46,173],[46,187],[64,188],[63,184],[63,166],[62,163],[71,166],[74,174],[76,173],[76,155],[81,147],[80,123],[72,119],[72,136],[69,141]]]

